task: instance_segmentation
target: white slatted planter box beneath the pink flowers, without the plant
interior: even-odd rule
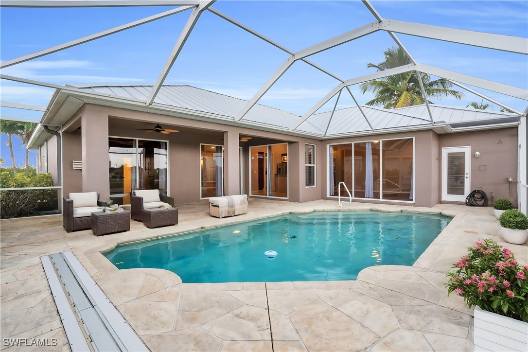
[[[475,307],[475,351],[528,351],[528,322]]]

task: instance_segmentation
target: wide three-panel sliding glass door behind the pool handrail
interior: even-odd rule
[[[412,202],[414,139],[328,145],[328,196],[344,182],[354,198]]]

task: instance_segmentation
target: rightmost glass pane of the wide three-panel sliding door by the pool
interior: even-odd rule
[[[383,178],[380,186],[383,199],[412,201],[412,138],[384,140],[382,148]]]

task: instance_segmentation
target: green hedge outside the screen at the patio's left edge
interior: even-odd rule
[[[52,187],[51,174],[2,172],[1,188]],[[22,189],[0,192],[0,217],[13,218],[39,215],[40,212],[56,211],[57,189]]]

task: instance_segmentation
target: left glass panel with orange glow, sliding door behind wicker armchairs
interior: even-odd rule
[[[130,192],[136,185],[136,140],[108,139],[110,199],[116,204],[130,204]]]

